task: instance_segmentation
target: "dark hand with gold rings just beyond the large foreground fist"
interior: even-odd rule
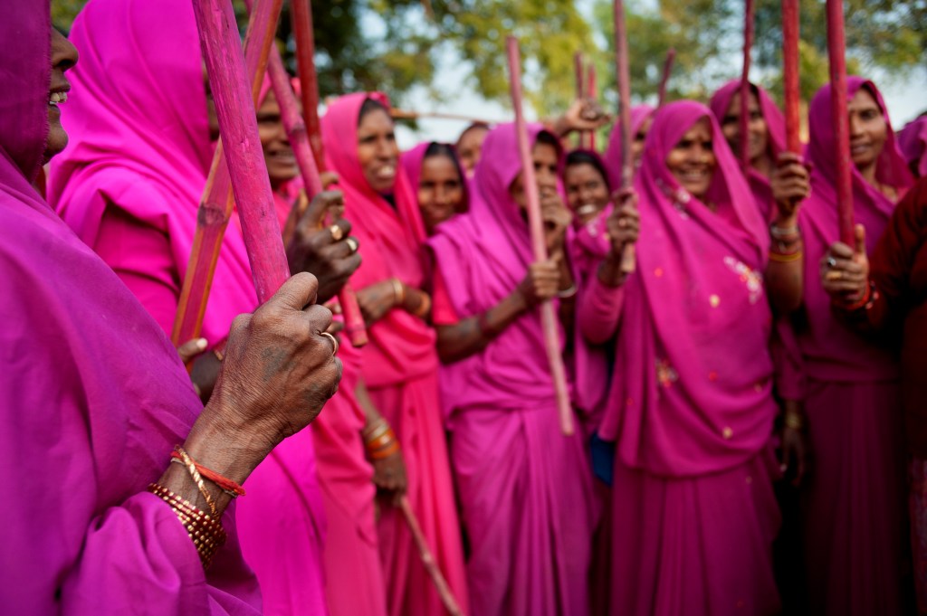
[[[292,240],[286,246],[286,260],[290,271],[308,271],[319,280],[320,301],[337,295],[348,282],[350,275],[361,267],[361,255],[356,251],[357,240],[349,238],[350,222],[335,222],[339,231],[323,228],[329,210],[344,209],[344,195],[327,191],[316,195],[306,213],[299,220]],[[335,240],[335,233],[340,239]]]

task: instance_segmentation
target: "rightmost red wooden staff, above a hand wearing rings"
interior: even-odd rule
[[[853,245],[853,168],[850,166],[850,119],[846,102],[846,40],[844,37],[844,4],[827,0],[827,51],[831,65],[831,114],[833,133],[837,137],[837,218],[840,220],[840,241]]]

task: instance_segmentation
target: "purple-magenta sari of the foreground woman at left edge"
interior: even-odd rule
[[[4,7],[0,601],[16,614],[258,614],[234,516],[204,573],[183,525],[145,492],[202,408],[176,351],[31,185],[50,31],[44,0]]]

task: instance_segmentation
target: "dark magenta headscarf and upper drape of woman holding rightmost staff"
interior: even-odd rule
[[[904,195],[914,182],[904,157],[895,145],[888,109],[882,94],[872,82],[861,77],[849,77],[847,100],[860,88],[866,87],[882,109],[887,126],[887,138],[879,156],[876,179],[893,186],[898,197]],[[836,137],[833,133],[831,113],[831,86],[825,85],[815,94],[808,112],[811,127],[807,147],[811,172],[811,195],[799,213],[805,239],[805,308],[807,328],[800,333],[800,344],[805,354],[806,370],[810,376],[827,381],[888,381],[897,376],[897,363],[893,354],[873,345],[835,321],[831,313],[831,299],[820,283],[819,261],[828,246],[839,239],[837,223]],[[879,241],[895,203],[883,195],[853,168],[853,214],[857,223],[866,227],[867,252]]]

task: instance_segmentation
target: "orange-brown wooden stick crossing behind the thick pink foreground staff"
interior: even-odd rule
[[[276,22],[280,19],[281,6],[283,0],[260,0],[258,10],[252,12],[248,21],[245,64],[248,75],[251,76],[251,94],[255,102],[260,94],[260,83],[273,44]],[[203,317],[206,314],[216,264],[219,262],[222,238],[234,207],[232,182],[220,139],[199,203],[197,233],[194,235],[171,333],[171,341],[175,346],[197,338],[202,332]]]

